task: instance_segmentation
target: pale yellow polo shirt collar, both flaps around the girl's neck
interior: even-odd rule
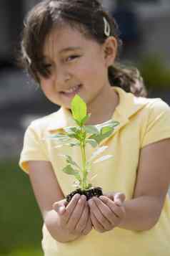
[[[129,123],[129,118],[131,115],[134,115],[138,110],[144,108],[147,103],[146,98],[136,97],[132,93],[126,93],[120,87],[112,87],[119,95],[119,104],[114,110],[112,118],[115,121],[118,121],[120,125],[115,129],[119,130],[122,126]],[[66,126],[76,126],[76,122],[71,116],[69,109],[61,108],[54,113],[53,118],[51,119],[48,127],[50,133],[56,133],[56,131],[61,130]]]

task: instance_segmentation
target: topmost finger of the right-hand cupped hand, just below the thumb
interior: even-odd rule
[[[116,218],[124,218],[125,216],[125,209],[124,207],[120,207],[116,205],[111,199],[109,199],[106,196],[100,196],[99,197],[104,204],[106,204],[111,211],[115,214]]]

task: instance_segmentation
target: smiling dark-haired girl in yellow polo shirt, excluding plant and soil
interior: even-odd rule
[[[27,128],[21,169],[29,174],[44,219],[46,256],[168,256],[170,254],[170,108],[147,99],[139,72],[116,65],[117,26],[97,0],[45,0],[31,10],[23,62],[44,95],[61,108]],[[86,124],[113,118],[120,125],[102,143],[114,158],[93,166],[104,196],[76,194],[59,153],[81,163],[79,149],[56,148],[49,134],[75,125],[78,93],[91,113]],[[139,97],[136,97],[139,96]],[[101,143],[101,144],[102,144]],[[86,148],[87,157],[93,148]],[[126,200],[125,200],[126,196]]]

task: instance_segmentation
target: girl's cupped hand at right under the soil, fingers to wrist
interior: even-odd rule
[[[125,195],[109,193],[94,196],[89,200],[91,222],[98,232],[107,232],[118,227],[126,216],[124,209]]]

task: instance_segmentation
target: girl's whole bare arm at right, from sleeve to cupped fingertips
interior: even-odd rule
[[[123,202],[122,194],[116,196],[111,193],[101,196],[101,200],[89,202],[91,222],[95,229],[104,232],[121,227],[142,231],[154,227],[169,189],[169,152],[170,139],[151,143],[141,149],[133,199]],[[121,199],[122,206],[116,204],[115,198]]]

